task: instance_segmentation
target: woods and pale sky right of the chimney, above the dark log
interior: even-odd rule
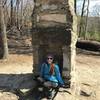
[[[99,0],[76,0],[79,38],[100,41],[99,2]]]

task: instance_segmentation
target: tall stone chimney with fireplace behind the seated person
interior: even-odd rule
[[[35,0],[33,22],[33,72],[46,54],[53,53],[65,83],[75,84],[77,21],[74,0]]]

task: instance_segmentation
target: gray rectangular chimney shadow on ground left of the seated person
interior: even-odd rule
[[[2,74],[0,75],[1,89],[30,89],[36,83],[33,74]]]

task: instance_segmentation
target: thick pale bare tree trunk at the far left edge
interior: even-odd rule
[[[8,44],[7,44],[7,35],[6,35],[6,25],[4,20],[4,8],[2,6],[2,0],[0,0],[0,33],[3,43],[3,59],[8,57]]]

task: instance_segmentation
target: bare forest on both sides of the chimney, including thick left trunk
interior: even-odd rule
[[[82,40],[100,41],[100,5],[93,6],[94,16],[90,16],[89,6],[92,0],[81,1],[81,11],[78,13],[79,0],[75,0],[78,37]],[[4,52],[0,52],[0,56],[4,54],[3,58],[8,55],[9,32],[13,32],[11,30],[18,31],[19,38],[31,35],[33,9],[34,0],[0,0],[0,49]],[[16,34],[14,32],[11,35]]]

